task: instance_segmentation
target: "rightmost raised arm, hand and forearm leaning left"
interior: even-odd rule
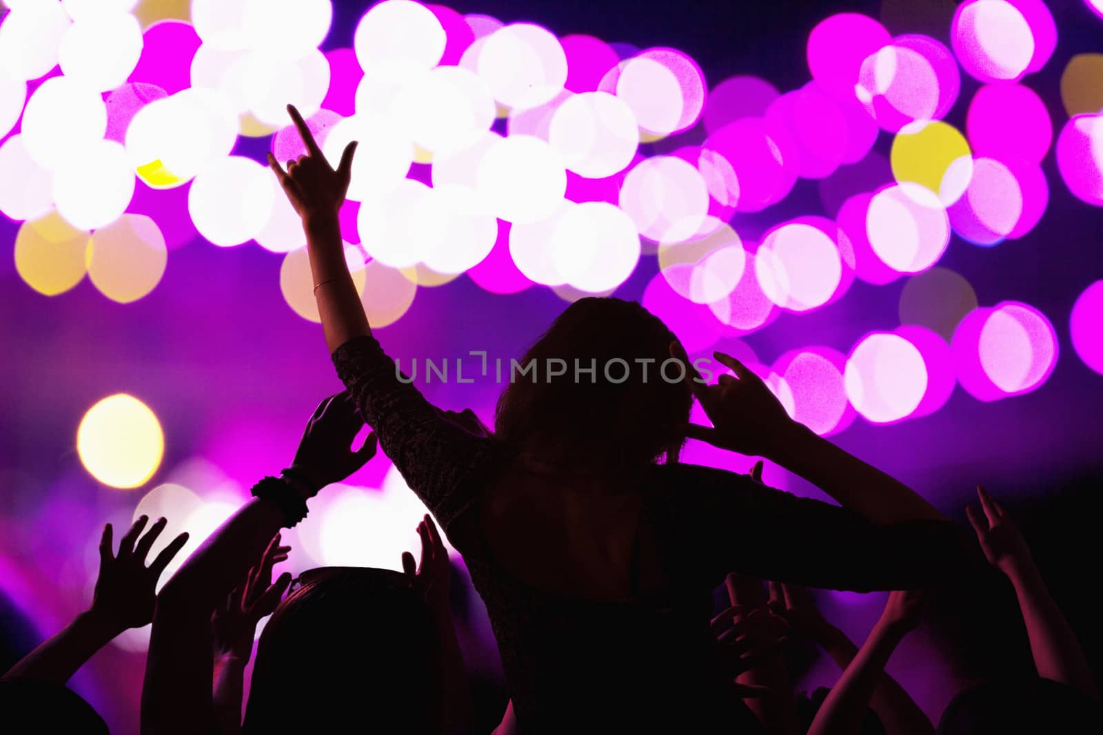
[[[1068,684],[1097,700],[1091,667],[1061,609],[1046,587],[1022,534],[983,487],[977,486],[981,511],[966,508],[988,562],[1007,575],[1019,599],[1038,675]]]

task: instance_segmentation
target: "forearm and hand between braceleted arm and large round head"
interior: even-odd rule
[[[277,533],[242,584],[227,595],[226,604],[211,616],[215,655],[213,698],[223,733],[237,733],[242,728],[245,666],[253,655],[257,624],[275,612],[291,584],[288,572],[272,582],[272,568],[287,561],[291,550],[279,542]]]

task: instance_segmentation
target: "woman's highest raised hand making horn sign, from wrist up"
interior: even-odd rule
[[[300,155],[297,161],[288,161],[287,170],[283,170],[276,156],[269,152],[268,165],[279,179],[291,206],[303,220],[314,215],[335,216],[344,204],[349,182],[352,181],[352,160],[356,153],[356,141],[345,147],[341,154],[341,163],[333,169],[325,160],[322,149],[299,110],[293,105],[288,105],[287,111],[295,127],[299,129],[299,134],[302,136],[307,154]]]

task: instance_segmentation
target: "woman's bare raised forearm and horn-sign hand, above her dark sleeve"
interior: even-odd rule
[[[299,110],[288,105],[287,111],[302,136],[307,154],[297,161],[288,161],[285,170],[269,152],[268,165],[302,219],[310,272],[314,278],[314,299],[325,332],[325,344],[332,353],[354,337],[372,334],[364,305],[349,274],[338,218],[352,180],[356,142],[349,143],[341,155],[341,163],[333,169]]]

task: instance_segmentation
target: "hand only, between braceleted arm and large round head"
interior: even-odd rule
[[[279,544],[277,533],[268,543],[258,565],[251,568],[240,586],[235,587],[226,604],[211,616],[215,651],[247,661],[253,651],[253,638],[260,618],[271,615],[283,593],[291,584],[291,575],[283,572],[272,583],[272,568],[287,561],[291,547]]]

